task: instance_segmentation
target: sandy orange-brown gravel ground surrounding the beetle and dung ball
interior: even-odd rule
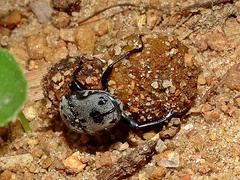
[[[0,128],[0,179],[240,179],[240,1],[79,2],[0,2],[0,45],[14,55],[28,80],[29,95],[23,112],[31,126],[31,132],[25,133],[17,120]],[[82,22],[116,4],[121,5]],[[65,58],[98,58],[103,67],[85,60],[86,67],[96,65],[99,71],[88,69],[89,76],[82,79],[86,85],[98,87],[103,69],[126,52],[129,37],[138,34],[145,43],[161,35],[169,42],[177,39],[188,48],[179,62],[188,67],[184,73],[189,76],[197,72],[196,87],[183,85],[195,94],[189,112],[161,128],[135,131],[120,123],[94,137],[69,130],[56,107],[61,96],[46,90],[43,77],[47,75],[48,87],[66,89],[65,80],[70,81],[77,64],[56,63]],[[171,50],[164,53],[180,51]],[[51,67],[55,74],[50,74]],[[154,77],[161,79],[165,74],[155,68],[158,74]],[[118,77],[113,75],[115,80],[109,82],[111,93],[118,91]],[[146,83],[152,80],[149,76],[141,78]],[[136,99],[134,85],[129,86]],[[155,90],[158,85],[150,83]],[[179,91],[174,92],[176,95]],[[182,101],[178,100],[180,105]],[[171,106],[170,102],[176,100],[168,102]],[[151,110],[129,109],[143,116]]]

